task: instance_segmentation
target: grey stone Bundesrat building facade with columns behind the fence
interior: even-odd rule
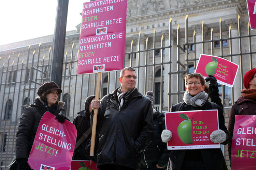
[[[71,121],[95,95],[96,74],[76,75],[81,24],[66,33],[60,100]],[[194,72],[200,54],[239,65],[233,88],[218,84],[228,126],[232,104],[241,96],[242,78],[256,67],[256,31],[251,30],[244,0],[128,0],[124,66],[133,66],[137,88],[154,92],[154,107],[168,112],[183,100],[184,77]],[[23,109],[38,87],[49,81],[53,35],[0,46],[1,168],[15,154],[15,137]],[[115,88],[120,71],[104,72],[100,98]],[[208,84],[208,83],[207,83]],[[223,146],[227,164],[227,147]],[[230,167],[229,167],[230,168]]]

